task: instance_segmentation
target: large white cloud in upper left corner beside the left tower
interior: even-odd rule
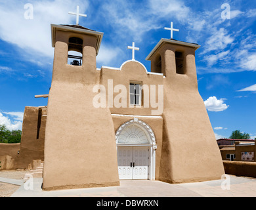
[[[79,1],[33,1],[33,19],[24,18],[26,1],[5,1],[0,5],[0,38],[17,45],[28,54],[53,57],[51,47],[51,24],[74,24],[75,16],[69,15],[70,5]],[[87,1],[81,4],[81,12]],[[23,51],[23,53],[24,53]]]

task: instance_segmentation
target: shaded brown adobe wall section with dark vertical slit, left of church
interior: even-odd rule
[[[39,116],[39,110],[41,110],[41,117]],[[47,108],[25,107],[20,154],[15,163],[16,169],[28,169],[28,165],[32,164],[34,159],[43,161],[46,119]]]

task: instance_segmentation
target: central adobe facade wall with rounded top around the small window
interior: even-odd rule
[[[116,107],[114,103],[114,99],[117,95],[121,93],[119,90],[118,93],[113,93],[114,90],[108,89],[108,80],[113,81],[113,88],[116,85],[124,85],[126,90],[126,106],[125,108]],[[146,89],[142,89],[142,106],[135,106],[134,108],[129,108],[129,84],[131,81],[140,82],[141,85],[147,85],[149,91],[147,92]],[[150,104],[150,85],[156,85],[156,98],[154,99],[155,102],[158,102],[158,85],[163,85],[163,75],[154,75],[154,74],[147,74],[146,69],[140,62],[136,62],[133,60],[129,60],[129,62],[125,62],[123,66],[121,66],[121,70],[112,70],[107,68],[102,68],[100,70],[100,84],[106,87],[106,93],[110,91],[113,93],[113,104],[110,107],[110,112],[112,114],[130,114],[130,115],[140,115],[140,116],[161,116],[163,110],[158,108],[152,108],[152,104]],[[110,86],[111,87],[111,86]],[[153,86],[154,87],[154,86]],[[118,91],[118,90],[117,90]],[[146,100],[144,100],[144,96],[146,93],[149,93],[149,106],[145,106]],[[108,98],[106,97],[106,102],[108,102]],[[152,112],[153,111],[153,112]],[[153,114],[152,114],[153,113]]]

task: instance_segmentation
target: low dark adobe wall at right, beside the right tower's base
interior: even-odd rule
[[[226,174],[256,178],[256,162],[223,161],[223,165]]]

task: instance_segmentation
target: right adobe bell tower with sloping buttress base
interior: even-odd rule
[[[221,179],[224,167],[198,91],[198,44],[161,39],[146,60],[164,75],[160,180],[171,183]]]

